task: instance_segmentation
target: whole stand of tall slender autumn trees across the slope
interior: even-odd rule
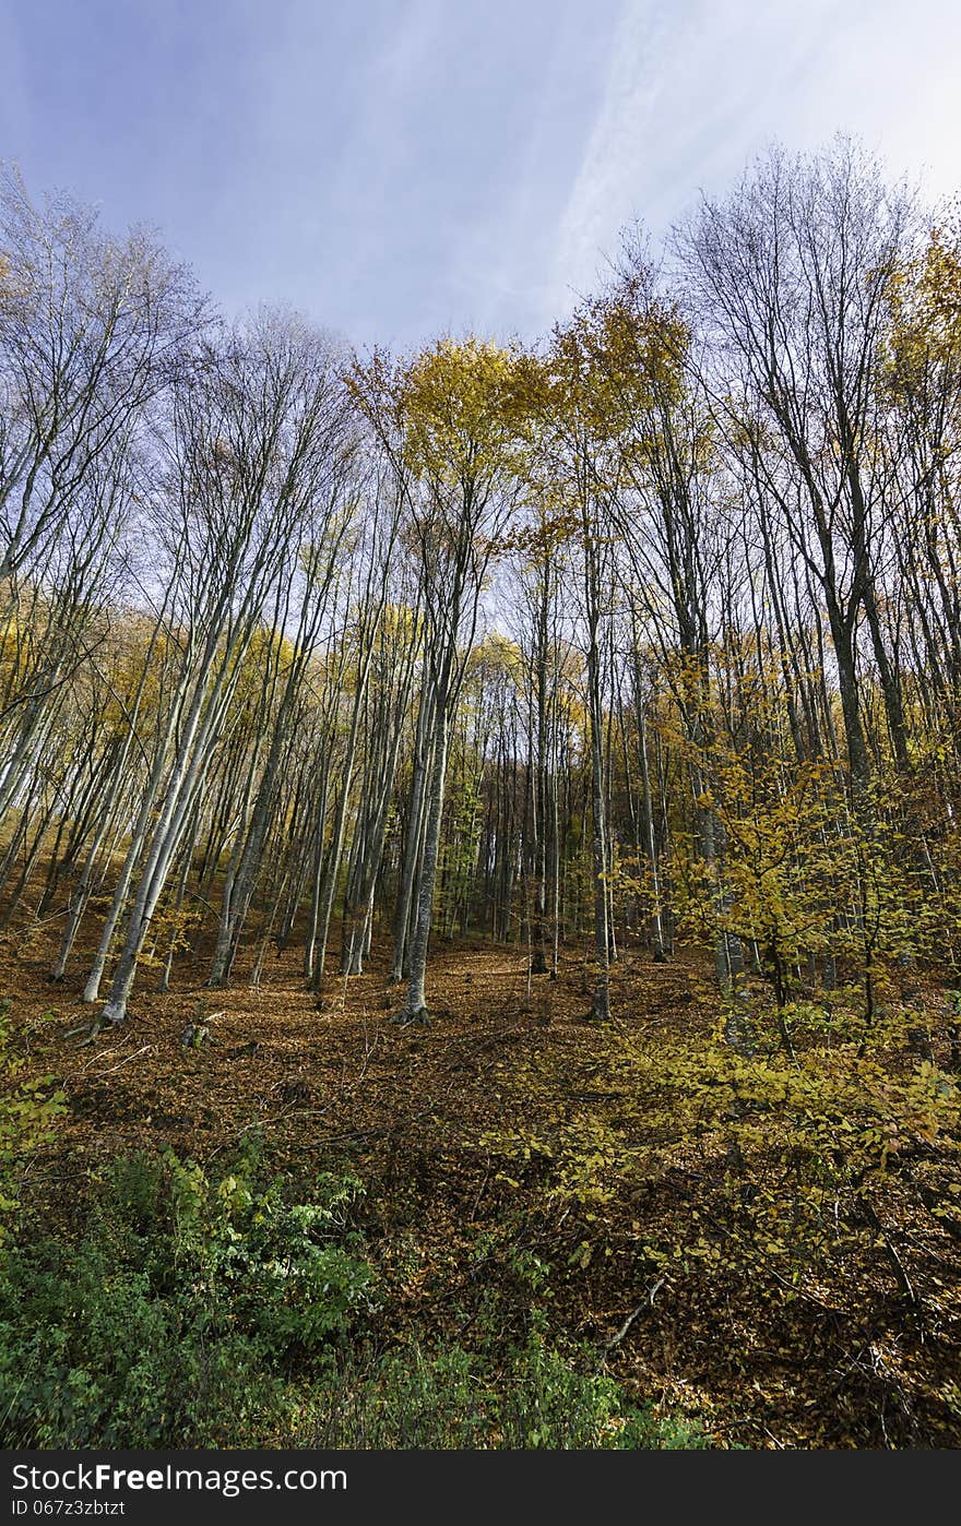
[[[959,462],[958,229],[845,142],[541,345],[364,363],[11,179],[0,928],[95,1029],[270,945],[426,1022],[474,935],[597,1021],[692,942],[735,1045],[749,975],[871,1022],[961,961]]]

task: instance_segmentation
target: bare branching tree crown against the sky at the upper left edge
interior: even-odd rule
[[[98,459],[182,374],[206,324],[183,267],[69,197],[0,175],[0,583],[55,546]]]

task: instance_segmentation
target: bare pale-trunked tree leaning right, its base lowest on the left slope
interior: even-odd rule
[[[165,530],[183,548],[188,623],[159,815],[144,819],[127,855],[138,881],[102,1009],[113,1024],[270,589],[345,449],[335,359],[313,333],[264,314],[203,362],[171,421]],[[95,1000],[90,983],[86,998]]]

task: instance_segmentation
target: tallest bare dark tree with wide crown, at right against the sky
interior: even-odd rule
[[[848,768],[871,775],[857,673],[863,620],[891,742],[906,761],[903,696],[885,645],[877,546],[888,472],[877,389],[889,282],[912,208],[856,145],[816,157],[773,151],[726,201],[704,198],[678,235],[698,316],[718,345],[726,403],[756,443],[759,488],[823,598]],[[720,394],[720,388],[718,388]]]

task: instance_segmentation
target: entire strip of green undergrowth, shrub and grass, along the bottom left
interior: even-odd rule
[[[214,1175],[134,1152],[92,1183],[72,1239],[0,1256],[8,1447],[681,1448],[697,1427],[631,1405],[550,1346],[374,1341],[382,1293],[359,1181],[304,1193],[252,1140]],[[594,1358],[596,1360],[596,1358]]]

